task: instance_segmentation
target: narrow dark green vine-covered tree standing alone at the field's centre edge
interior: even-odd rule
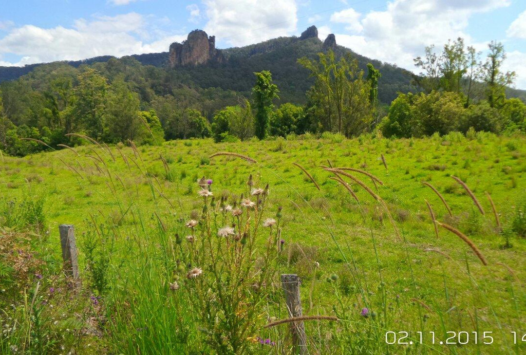
[[[268,134],[270,115],[274,108],[272,100],[279,98],[279,90],[275,84],[272,84],[272,75],[268,70],[254,75],[256,75],[256,85],[252,88],[252,97],[256,109],[255,134],[259,139],[264,139]]]

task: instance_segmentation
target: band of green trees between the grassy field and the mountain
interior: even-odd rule
[[[428,47],[415,59],[423,70],[415,84],[423,92],[399,93],[389,107],[378,99],[380,70],[368,64],[366,73],[351,54],[332,50],[297,60],[311,77],[300,106],[274,105],[280,92],[267,70],[251,75],[251,92],[242,95],[191,85],[184,70],[143,66],[131,57],[78,68],[54,63],[0,84],[0,149],[23,156],[81,144],[80,135],[160,144],[325,131],[352,137],[374,129],[387,137],[525,130],[526,105],[505,96],[515,74],[502,72],[504,59],[500,43],[489,45],[484,61],[461,38],[439,54]]]

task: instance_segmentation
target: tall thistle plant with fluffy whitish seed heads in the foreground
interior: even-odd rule
[[[203,343],[218,353],[244,353],[260,345],[267,296],[275,279],[279,221],[266,215],[268,185],[229,200],[216,198],[211,180],[198,180],[203,209],[190,219],[186,238],[176,238],[176,289],[185,289],[199,321]],[[172,285],[172,284],[170,284]]]

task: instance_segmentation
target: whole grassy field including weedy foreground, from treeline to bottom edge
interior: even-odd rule
[[[264,328],[288,318],[280,273],[300,276],[304,315],[338,318],[305,322],[308,353],[526,351],[526,219],[520,212],[526,206],[526,137],[292,138],[221,144],[179,140],[137,149],[86,145],[0,158],[0,277],[5,277],[0,323],[11,329],[0,336],[0,352],[291,353],[289,324]],[[228,155],[210,157],[220,151],[256,163]],[[293,163],[305,168],[319,190]],[[379,182],[345,170],[363,181],[367,191],[340,173],[355,191],[354,199],[330,178],[335,174],[322,168],[329,165],[365,170]],[[225,292],[246,291],[224,278],[205,281],[207,275],[226,272],[210,269],[215,264],[206,250],[218,250],[230,260],[238,249],[227,244],[222,254],[219,246],[203,242],[183,251],[188,244],[185,223],[200,221],[196,238],[206,238],[210,226],[235,221],[218,208],[240,201],[241,193],[249,196],[250,175],[253,188],[269,188],[268,197],[261,195],[264,209],[256,208],[254,218],[245,221],[254,225],[255,238],[246,259],[252,263],[246,270],[252,269],[246,272],[259,277],[260,269],[271,271],[259,285],[266,291],[257,302],[238,300],[241,306],[231,310],[238,323],[232,325],[225,320],[230,319],[225,309],[216,311],[215,319],[201,317],[209,309],[226,307],[228,301],[216,302],[216,293],[210,292],[221,282],[227,282]],[[205,197],[206,208],[198,196],[197,180],[203,176],[213,180],[209,186],[216,198],[213,202]],[[452,176],[469,186],[483,213]],[[422,182],[440,192],[451,214]],[[437,235],[426,200],[436,220],[469,240],[438,224]],[[278,207],[282,210],[277,214]],[[279,247],[267,248],[267,229],[257,229],[266,218],[278,220],[279,233],[270,228],[270,237]],[[68,288],[60,273],[59,224],[75,225],[80,291]],[[231,256],[228,248],[235,250]],[[13,256],[10,250],[17,249]],[[268,260],[265,250],[271,250]],[[20,259],[26,253],[38,262],[27,262],[24,279],[7,262],[25,265]],[[188,256],[189,262],[181,261]],[[197,260],[209,262],[210,268],[197,265]],[[202,280],[199,286],[186,277],[188,268],[196,266],[203,266],[203,276],[195,279]],[[250,286],[243,278],[238,281]],[[170,287],[174,282],[178,289]],[[257,292],[249,293],[240,299],[254,300]],[[37,297],[42,297],[38,308]],[[250,319],[240,320],[248,315]],[[387,344],[386,332],[388,342],[396,336],[396,344]],[[36,344],[31,342],[35,337]],[[454,344],[446,344],[450,337]],[[261,339],[274,344],[261,344]]]

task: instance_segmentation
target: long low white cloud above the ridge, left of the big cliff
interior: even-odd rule
[[[3,65],[78,60],[100,55],[120,57],[165,52],[171,42],[186,38],[186,35],[157,33],[154,42],[145,42],[145,37],[148,37],[146,28],[149,32],[156,31],[144,16],[136,13],[101,16],[92,21],[78,19],[73,28],[25,25],[12,28],[0,38],[0,55],[10,53],[23,56],[18,63],[2,62]]]

